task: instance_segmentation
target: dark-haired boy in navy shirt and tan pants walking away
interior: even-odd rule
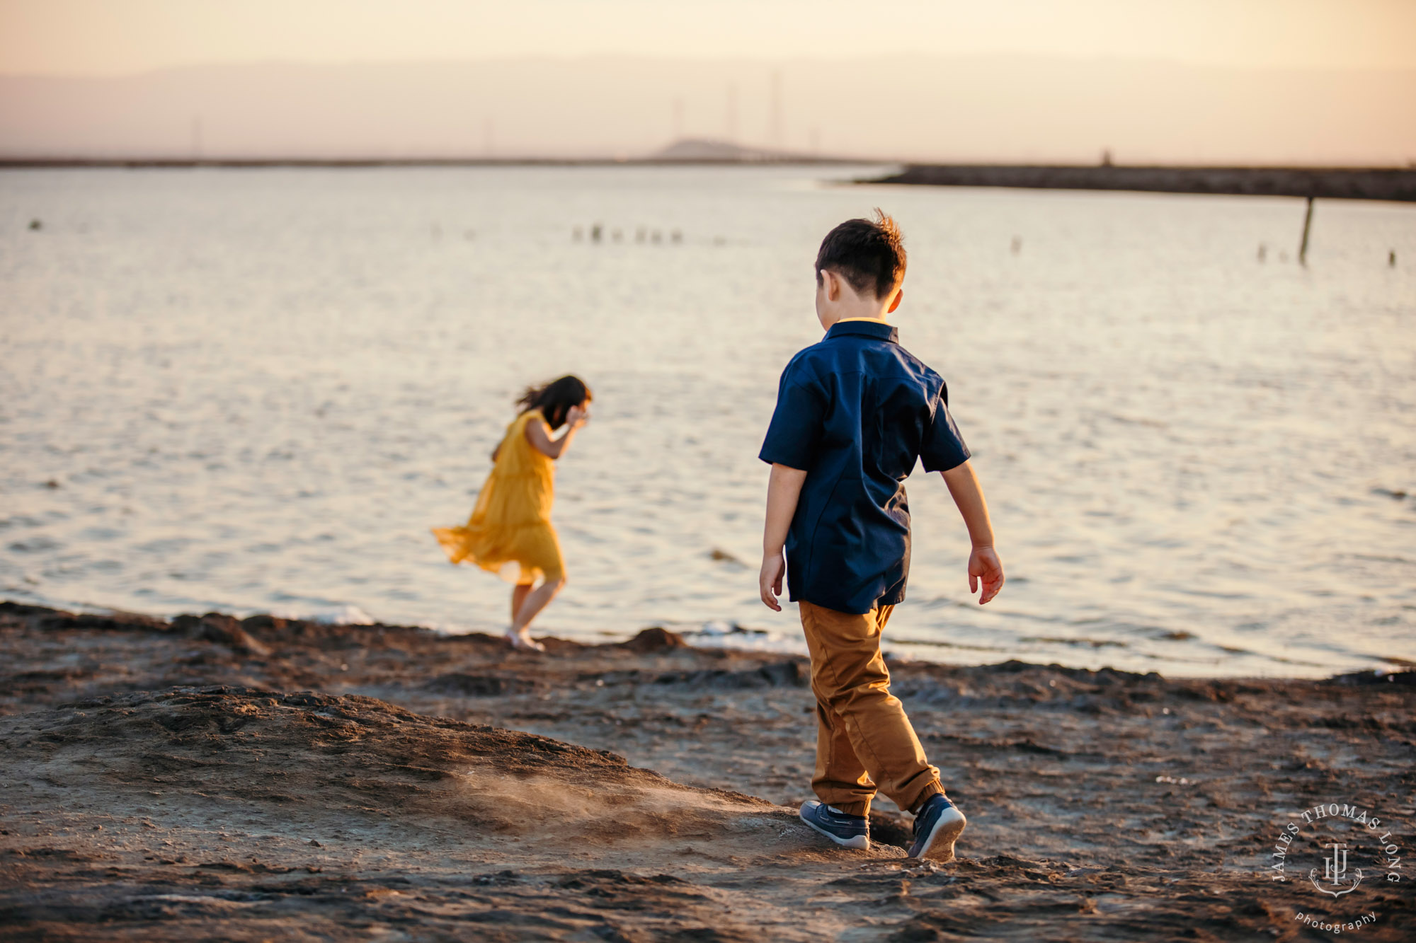
[[[912,858],[949,861],[964,816],[889,692],[881,630],[905,599],[909,505],[903,480],[916,459],[942,471],[973,552],[969,590],[986,603],[1003,564],[969,449],[949,415],[939,374],[899,345],[885,316],[899,307],[905,248],[895,221],[848,219],[816,256],[816,316],[826,338],[787,364],[762,460],[772,464],[762,539],[762,602],[777,612],[783,548],[800,603],[816,694],[820,801],[801,820],[847,848],[869,848],[879,789],[915,814]]]

